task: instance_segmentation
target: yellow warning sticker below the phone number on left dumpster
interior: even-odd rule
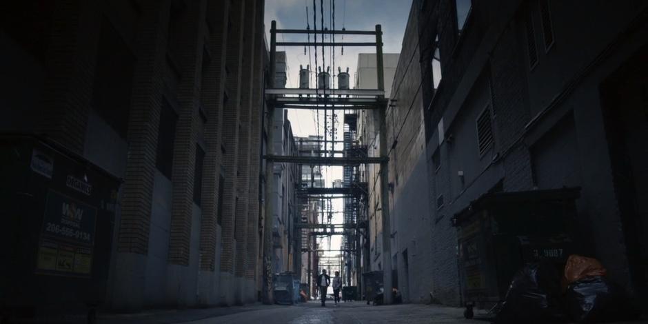
[[[43,239],[39,246],[37,273],[90,276],[92,250]]]

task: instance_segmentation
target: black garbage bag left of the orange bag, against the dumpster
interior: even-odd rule
[[[518,271],[500,304],[495,323],[560,323],[560,272],[551,263],[529,263]]]

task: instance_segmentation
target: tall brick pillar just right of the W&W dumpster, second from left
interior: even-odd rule
[[[142,3],[138,57],[128,123],[128,161],[122,186],[119,252],[147,254],[163,74],[168,1]]]

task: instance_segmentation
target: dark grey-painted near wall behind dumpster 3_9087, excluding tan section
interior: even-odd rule
[[[459,34],[454,1],[414,1],[421,14],[410,23],[418,19],[421,32],[406,33],[405,43],[419,43],[422,83],[429,85],[438,34],[443,71],[438,90],[423,88],[433,295],[441,303],[461,302],[449,218],[489,190],[582,187],[578,252],[600,259],[629,290],[640,286],[627,258],[633,234],[613,189],[600,89],[646,44],[645,3],[543,3],[474,1]],[[541,8],[548,8],[552,44],[545,44]],[[485,111],[494,143],[479,152],[476,119]]]

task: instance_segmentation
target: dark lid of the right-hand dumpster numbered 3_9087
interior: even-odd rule
[[[529,203],[541,201],[574,201],[580,197],[580,187],[549,190],[529,190],[516,192],[488,192],[471,201],[452,218],[452,225],[456,226],[461,221],[472,216],[474,213],[485,210],[502,203]]]

